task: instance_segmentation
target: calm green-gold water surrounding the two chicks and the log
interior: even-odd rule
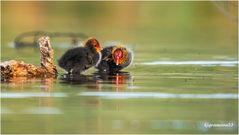
[[[235,4],[2,2],[1,61],[39,64],[37,49],[12,46],[34,30],[121,41],[135,56],[113,75],[58,67],[57,78],[2,82],[2,133],[238,133]],[[51,41],[55,61],[72,46]]]

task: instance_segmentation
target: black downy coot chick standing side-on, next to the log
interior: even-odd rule
[[[89,38],[83,47],[69,49],[58,60],[61,68],[68,73],[80,74],[101,61],[101,45],[95,38]]]

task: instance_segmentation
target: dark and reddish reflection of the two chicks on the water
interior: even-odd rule
[[[60,77],[61,83],[66,84],[85,84],[88,89],[101,91],[102,87],[107,84],[115,91],[124,91],[127,89],[125,84],[133,84],[133,77],[129,72],[117,72],[105,74],[95,72],[92,75],[72,75],[64,74]]]

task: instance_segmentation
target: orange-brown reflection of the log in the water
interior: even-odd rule
[[[52,97],[65,96],[63,93],[52,93],[55,83],[56,83],[56,78],[52,78],[52,77],[50,78],[13,77],[2,82],[1,98],[12,98],[12,99],[36,98],[38,102],[37,107],[31,108],[30,111],[35,110],[35,112],[38,112],[39,110],[43,110],[39,107],[49,107],[50,109],[45,109],[46,110],[45,113],[52,113],[51,107],[54,106],[54,99]],[[30,89],[31,92],[26,92],[27,89]],[[32,89],[39,89],[41,92],[40,93],[32,92]],[[8,92],[3,92],[3,91],[8,91]],[[17,92],[14,92],[14,91],[17,91]]]

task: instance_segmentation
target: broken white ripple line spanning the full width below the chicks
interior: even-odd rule
[[[175,99],[238,99],[236,93],[213,93],[213,94],[176,94],[162,92],[80,92],[78,96],[96,96],[109,99],[127,98],[175,98]],[[32,97],[69,97],[65,93],[1,93],[1,98],[32,98]]]

